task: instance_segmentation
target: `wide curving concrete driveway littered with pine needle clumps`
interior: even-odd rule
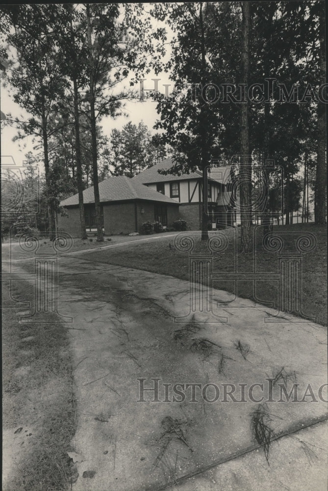
[[[192,315],[188,282],[78,253],[60,257],[58,295],[73,317],[75,491],[327,489],[326,328],[265,322],[277,312],[223,291]]]

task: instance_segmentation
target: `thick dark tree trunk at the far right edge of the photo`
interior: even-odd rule
[[[325,17],[319,17],[320,29],[320,74],[319,85],[326,83]],[[318,101],[318,149],[317,149],[317,216],[316,223],[326,223],[326,105]]]

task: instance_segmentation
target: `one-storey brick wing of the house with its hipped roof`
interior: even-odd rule
[[[141,232],[145,221],[160,221],[172,227],[179,218],[177,200],[147,188],[126,176],[110,177],[99,183],[101,215],[105,234]],[[83,191],[87,231],[96,231],[96,208],[93,186]],[[61,201],[68,216],[58,215],[58,231],[81,235],[78,194]]]

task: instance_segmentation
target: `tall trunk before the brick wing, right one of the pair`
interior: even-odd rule
[[[98,182],[98,163],[97,163],[97,128],[96,128],[96,113],[95,113],[95,81],[93,74],[93,56],[92,56],[92,41],[91,41],[91,20],[90,20],[90,5],[86,4],[87,14],[87,38],[89,49],[89,79],[90,79],[90,129],[91,129],[91,152],[92,152],[92,175],[95,194],[96,221],[97,221],[97,241],[103,242],[102,222],[101,222],[101,206],[99,195]]]

